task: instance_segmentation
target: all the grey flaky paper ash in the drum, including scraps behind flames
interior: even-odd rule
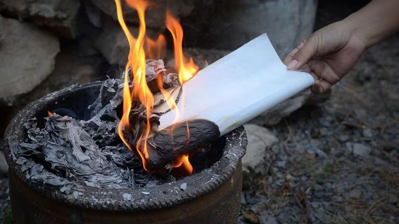
[[[162,75],[166,86],[177,85],[177,75],[166,75],[164,71],[162,60],[147,60],[148,83]],[[122,80],[108,79],[103,83],[99,96],[88,107],[89,120],[75,119],[70,115],[73,113],[65,113],[67,116],[54,112],[44,118],[44,128],[38,128],[36,118],[26,122],[25,142],[9,144],[13,159],[27,178],[66,194],[83,185],[120,189],[176,181],[173,175],[147,174],[141,159],[120,140],[117,109],[122,102]]]

